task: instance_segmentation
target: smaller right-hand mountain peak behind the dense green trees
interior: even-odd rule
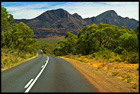
[[[127,26],[129,30],[136,29],[137,25],[139,24],[139,21],[135,19],[129,19],[128,17],[123,18],[119,16],[114,10],[108,10],[96,17],[86,18],[84,20],[88,25],[93,23],[106,23],[110,25],[116,25],[119,28],[122,26]]]

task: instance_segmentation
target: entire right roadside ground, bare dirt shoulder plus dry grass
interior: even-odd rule
[[[136,65],[131,65],[128,68],[127,66],[129,65],[123,63],[121,65],[121,63],[117,64],[113,62],[111,66],[111,63],[107,64],[97,60],[90,61],[87,58],[82,58],[85,62],[66,57],[61,58],[70,62],[95,87],[97,87],[100,92],[138,92],[139,72],[136,69],[135,72],[133,70],[133,67],[137,67]],[[129,72],[127,72],[128,70]],[[132,77],[129,77],[129,75]]]

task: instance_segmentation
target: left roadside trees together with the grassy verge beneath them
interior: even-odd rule
[[[19,61],[33,57],[39,49],[34,32],[23,22],[10,24],[13,15],[1,7],[1,67],[13,66]]]

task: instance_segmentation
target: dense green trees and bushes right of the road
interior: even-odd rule
[[[65,40],[58,42],[57,55],[89,55],[90,58],[113,58],[115,61],[139,62],[139,25],[136,30],[115,25],[92,24],[82,28],[77,35],[68,32]]]

